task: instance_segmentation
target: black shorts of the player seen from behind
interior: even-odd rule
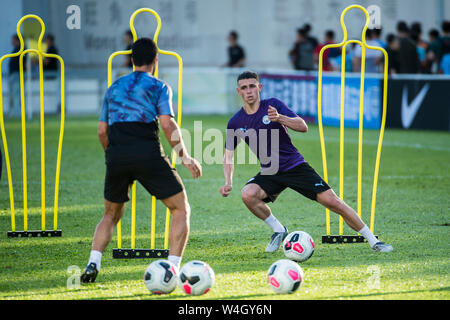
[[[167,156],[134,164],[106,163],[105,199],[123,203],[129,200],[128,192],[137,180],[157,199],[166,199],[184,190],[183,182]]]

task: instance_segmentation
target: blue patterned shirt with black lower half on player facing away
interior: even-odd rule
[[[107,90],[100,121],[108,123],[106,161],[129,164],[163,154],[158,117],[174,117],[172,89],[147,72],[117,79]]]

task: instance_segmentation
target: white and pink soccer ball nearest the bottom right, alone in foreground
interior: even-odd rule
[[[276,293],[293,293],[300,288],[304,273],[298,263],[281,259],[274,262],[267,272],[269,287]]]

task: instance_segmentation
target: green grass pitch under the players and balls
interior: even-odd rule
[[[222,131],[228,117],[185,116],[183,128]],[[183,262],[198,259],[216,274],[213,289],[189,297],[177,288],[167,296],[153,296],[143,274],[151,260],[114,260],[108,246],[95,284],[70,289],[70,266],[83,269],[92,235],[103,215],[103,151],[97,139],[96,118],[68,118],[61,166],[59,228],[62,238],[8,239],[11,228],[5,164],[0,181],[0,299],[449,299],[450,298],[450,135],[443,132],[387,130],[377,192],[375,233],[393,245],[394,252],[373,252],[367,243],[322,244],[325,210],[294,191],[285,191],[271,205],[290,231],[304,230],[315,239],[312,258],[301,266],[305,282],[291,295],[275,295],[266,283],[271,263],[282,250],[267,254],[271,230],[242,203],[240,189],[258,171],[258,165],[235,168],[234,189],[228,198],[218,192],[224,182],[221,164],[203,163],[203,177],[193,180],[178,166],[192,208],[191,233]],[[13,180],[17,229],[23,227],[22,167],[19,121],[6,124]],[[52,227],[52,206],[59,121],[46,120],[47,228]],[[194,136],[192,132],[192,136]],[[318,127],[291,133],[295,146],[323,174]],[[29,172],[29,228],[40,228],[39,122],[27,124]],[[325,128],[329,183],[337,192],[339,130]],[[164,148],[170,154],[165,139]],[[344,199],[356,207],[357,130],[345,134]],[[363,220],[369,223],[378,132],[364,131]],[[204,142],[206,148],[210,142]],[[193,149],[194,150],[194,149]],[[192,151],[192,155],[196,154]],[[4,161],[4,159],[3,159]],[[137,196],[136,247],[150,246],[151,198],[141,186]],[[157,247],[163,246],[165,210],[157,204]],[[332,234],[338,232],[331,213]],[[130,243],[130,204],[123,218],[123,246]],[[344,234],[354,234],[344,226]]]

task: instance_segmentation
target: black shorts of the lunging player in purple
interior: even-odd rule
[[[330,186],[307,162],[274,175],[258,173],[246,185],[251,183],[257,184],[267,193],[268,197],[263,199],[264,202],[274,202],[286,188],[291,188],[311,200],[317,200],[318,193],[330,189]]]

